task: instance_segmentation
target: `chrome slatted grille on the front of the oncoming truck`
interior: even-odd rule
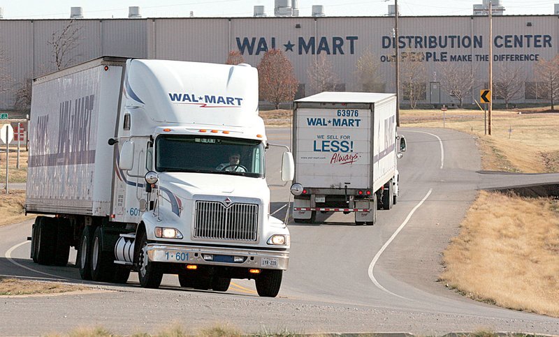
[[[258,205],[197,201],[194,237],[235,241],[256,241]]]

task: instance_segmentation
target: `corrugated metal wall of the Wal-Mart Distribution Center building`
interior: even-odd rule
[[[20,82],[55,69],[48,41],[68,22],[70,20],[0,20],[0,50],[9,59],[0,67],[10,76],[7,84],[10,92],[0,93],[0,109],[13,107]],[[229,51],[240,50],[247,63],[257,66],[263,53],[275,47],[285,52],[299,82],[307,84],[305,94],[309,95],[314,91],[308,85],[307,70],[321,55],[326,55],[333,64],[333,70],[347,91],[360,91],[356,62],[370,50],[379,61],[386,91],[395,91],[394,62],[391,61],[393,17],[76,20],[75,27],[79,29],[79,40],[69,55],[72,64],[102,55],[224,63]],[[476,74],[476,89],[466,103],[473,103],[479,96],[477,90],[488,82],[488,60],[484,59],[489,45],[487,17],[400,17],[399,33],[404,36],[400,51],[419,53],[424,58],[427,89],[432,82],[441,81],[442,67],[470,66]],[[513,59],[537,55],[539,59],[551,59],[559,51],[559,22],[553,15],[493,17],[493,36],[495,55],[512,55]],[[534,36],[540,36],[539,46],[535,45]],[[547,43],[542,42],[542,36],[547,36]],[[481,43],[473,43],[474,38]],[[522,41],[521,46],[518,41]],[[440,46],[441,42],[446,45]],[[534,81],[536,61],[495,61],[495,81],[504,63],[509,69],[521,68],[527,80]],[[442,101],[453,100],[442,92]],[[430,103],[429,93],[420,103]]]

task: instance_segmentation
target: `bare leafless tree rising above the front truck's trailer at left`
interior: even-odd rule
[[[52,62],[57,70],[66,68],[78,56],[72,55],[72,52],[78,47],[80,30],[81,27],[78,27],[75,20],[72,19],[63,29],[52,33],[52,36],[47,41],[47,44],[52,47]]]

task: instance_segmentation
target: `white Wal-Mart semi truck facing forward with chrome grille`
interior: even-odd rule
[[[101,57],[34,80],[25,209],[51,216],[35,220],[33,260],[64,266],[73,246],[83,279],[247,278],[275,297],[290,237],[270,216],[258,101],[246,64]]]

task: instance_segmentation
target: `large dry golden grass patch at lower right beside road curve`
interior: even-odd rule
[[[559,317],[559,202],[479,193],[444,263],[472,299]]]

